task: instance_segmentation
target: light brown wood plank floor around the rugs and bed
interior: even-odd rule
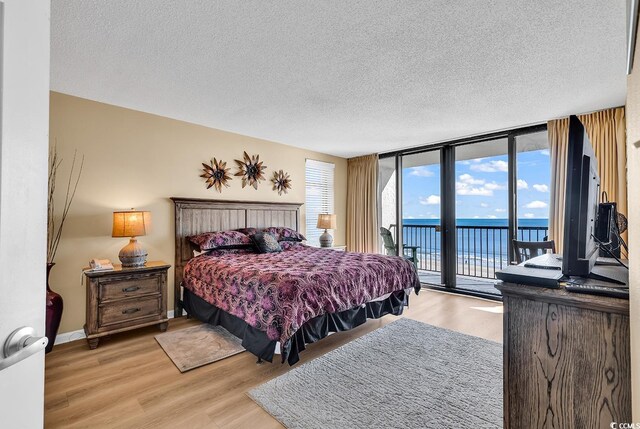
[[[409,317],[432,325],[502,340],[499,302],[423,290],[412,296]],[[301,365],[393,320],[371,320],[308,346]],[[169,329],[198,322],[173,319]],[[280,428],[246,392],[289,371],[256,364],[250,353],[181,374],[156,343],[157,328],[115,335],[89,350],[85,340],[56,346],[46,357],[47,428]]]

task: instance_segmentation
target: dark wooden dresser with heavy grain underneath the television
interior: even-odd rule
[[[631,422],[629,301],[512,283],[504,298],[504,427]]]

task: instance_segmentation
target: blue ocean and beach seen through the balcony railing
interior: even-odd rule
[[[458,273],[481,270],[493,277],[507,265],[508,219],[456,219]],[[418,246],[418,267],[440,269],[440,219],[403,219],[403,241]],[[542,241],[548,235],[548,219],[518,219],[518,240]]]

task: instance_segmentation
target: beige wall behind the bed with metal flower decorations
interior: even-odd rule
[[[169,197],[304,203],[305,159],[312,158],[336,164],[338,229],[334,236],[336,244],[345,242],[346,159],[55,92],[51,93],[50,138],[64,162],[59,197],[64,196],[63,179],[68,175],[73,151],[77,149],[85,156],[84,172],[50,279],[51,288],[64,299],[60,332],[82,329],[84,324],[82,267],[91,258],[117,262],[118,251],[127,244],[127,239],[111,238],[114,209],[151,211],[151,232],[139,241],[150,260],[173,264],[173,205]],[[222,194],[205,189],[199,177],[201,163],[214,156],[222,158],[235,173],[233,160],[241,158],[243,150],[260,154],[269,177],[275,169],[289,172],[293,189],[283,196],[278,196],[269,182],[262,182],[258,190],[242,189],[239,178],[234,178]],[[302,210],[304,232],[304,207]],[[169,277],[171,291],[173,271]],[[173,308],[171,293],[168,308]]]

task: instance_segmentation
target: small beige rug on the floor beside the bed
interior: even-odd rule
[[[241,340],[220,326],[202,325],[156,335],[180,372],[242,353]]]

